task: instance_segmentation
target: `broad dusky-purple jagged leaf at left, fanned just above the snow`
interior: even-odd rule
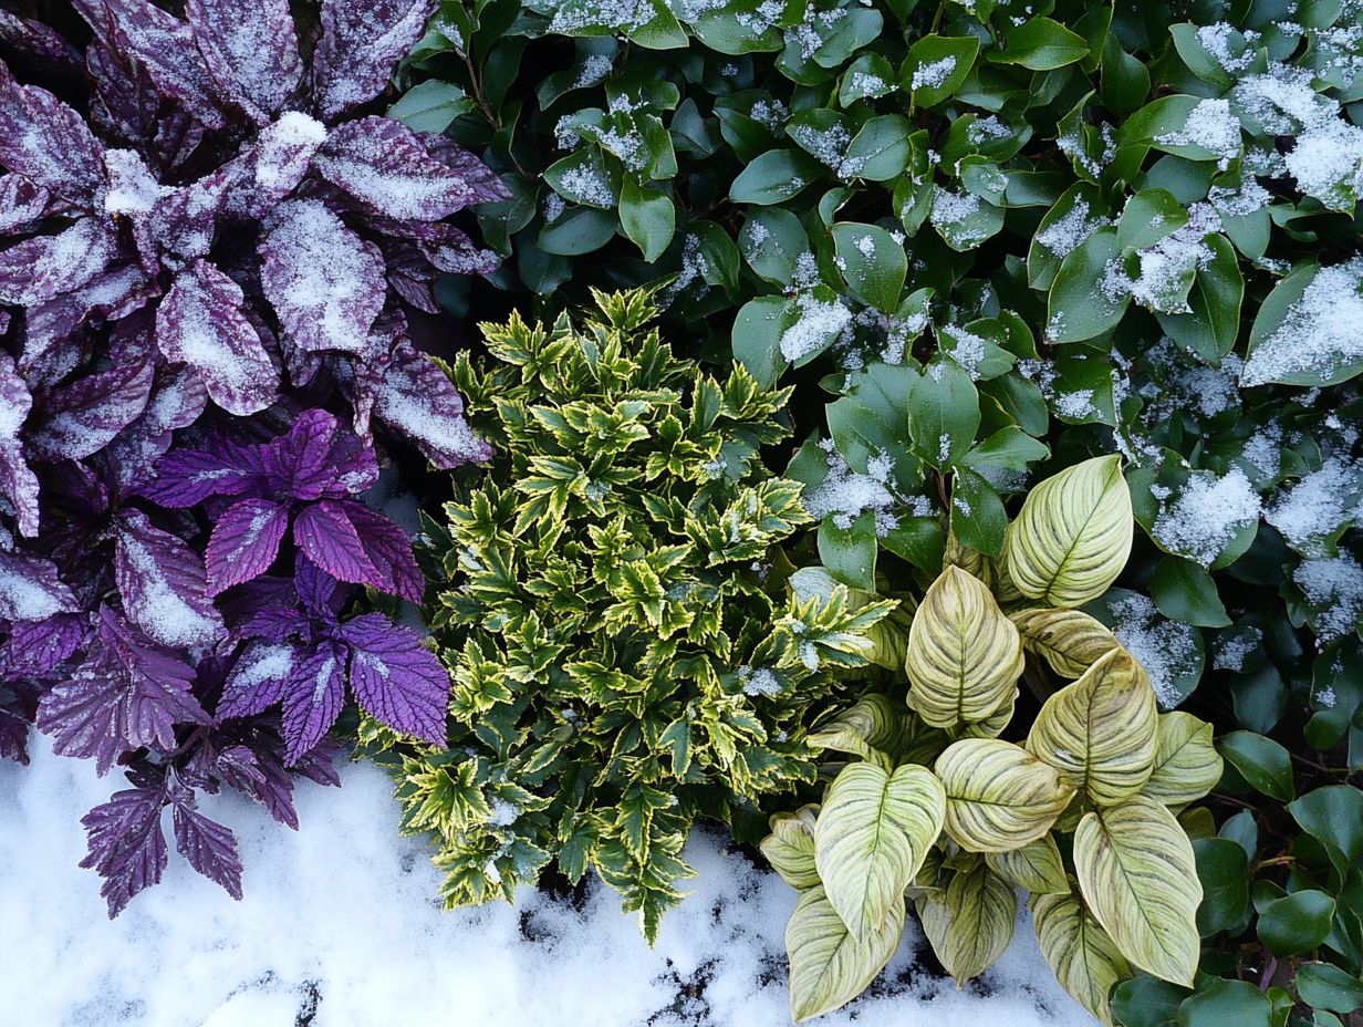
[[[102,775],[128,749],[172,749],[176,724],[209,723],[192,682],[192,667],[104,607],[86,661],[42,697],[38,728],[59,754],[93,757]]]

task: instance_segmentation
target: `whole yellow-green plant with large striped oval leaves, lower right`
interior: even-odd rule
[[[1119,460],[1090,460],[1030,492],[1002,559],[949,546],[908,630],[876,625],[876,653],[904,653],[905,691],[816,727],[811,745],[853,761],[762,843],[801,891],[786,929],[797,1020],[875,978],[906,902],[957,982],[983,972],[1013,937],[1018,889],[1056,978],[1103,1023],[1134,971],[1193,983],[1202,888],[1176,814],[1221,758],[1210,726],[1161,715],[1141,664],[1077,608],[1130,546]],[[804,569],[791,586],[829,580]],[[1020,681],[1044,698],[1025,735],[1011,723]]]

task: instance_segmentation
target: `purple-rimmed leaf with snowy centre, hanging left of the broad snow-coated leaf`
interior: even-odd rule
[[[245,417],[279,394],[279,372],[241,307],[241,288],[207,261],[180,273],[157,311],[157,345],[203,378],[218,406]]]

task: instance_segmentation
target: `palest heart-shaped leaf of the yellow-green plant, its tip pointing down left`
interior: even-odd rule
[[[866,938],[919,872],[946,813],[942,783],[925,766],[893,775],[851,764],[829,787],[814,827],[814,863],[848,930]]]

